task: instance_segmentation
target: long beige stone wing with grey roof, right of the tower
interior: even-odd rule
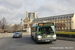
[[[33,20],[33,23],[39,23],[43,21],[55,22],[56,30],[75,30],[75,14],[37,18]]]

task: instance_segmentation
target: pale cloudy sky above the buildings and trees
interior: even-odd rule
[[[38,18],[75,13],[75,0],[0,0],[0,19],[8,24],[20,23],[26,11],[36,11]]]

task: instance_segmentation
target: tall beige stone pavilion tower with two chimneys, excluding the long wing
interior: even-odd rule
[[[35,12],[26,12],[26,18],[23,20],[23,30],[29,29],[33,24],[33,20],[37,18]]]

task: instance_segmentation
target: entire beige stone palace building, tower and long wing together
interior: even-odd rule
[[[26,12],[26,18],[24,19],[23,28],[30,28],[33,23],[40,22],[54,22],[56,24],[56,30],[75,30],[74,13],[37,18],[36,12]]]

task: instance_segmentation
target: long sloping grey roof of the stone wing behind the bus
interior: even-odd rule
[[[43,17],[43,18],[37,18],[37,19],[34,19],[33,22],[46,21],[46,20],[52,20],[52,19],[57,19],[57,18],[73,17],[73,15],[74,15],[74,13],[72,13],[72,14],[65,14],[65,15],[57,15],[57,16],[49,16],[49,17]]]

